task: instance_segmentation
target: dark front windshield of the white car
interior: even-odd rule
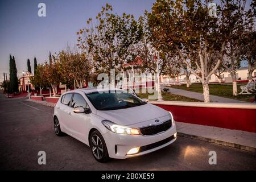
[[[120,90],[87,93],[86,96],[97,110],[125,109],[146,104],[133,94]]]

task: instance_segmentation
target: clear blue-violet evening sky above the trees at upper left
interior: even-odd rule
[[[38,16],[40,2],[46,3],[46,17]],[[9,53],[15,56],[18,76],[27,70],[27,59],[33,71],[34,56],[43,63],[49,51],[76,44],[76,32],[106,3],[115,13],[138,18],[151,9],[154,0],[0,0],[0,81],[3,72],[9,74]]]

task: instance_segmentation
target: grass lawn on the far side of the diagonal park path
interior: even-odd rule
[[[200,83],[192,84],[189,88],[186,85],[174,85],[171,88],[188,90],[191,92],[203,93],[203,86]],[[247,101],[249,102],[251,98],[254,97],[254,94],[249,95],[238,95],[233,96],[233,86],[232,85],[221,85],[221,84],[210,84],[209,85],[210,95],[220,96],[226,98],[233,98],[236,100]],[[240,93],[240,86],[237,86],[237,92]]]

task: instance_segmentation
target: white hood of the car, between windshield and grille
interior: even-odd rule
[[[169,113],[158,106],[147,103],[126,109],[97,110],[96,114],[118,125],[127,126],[164,117]]]

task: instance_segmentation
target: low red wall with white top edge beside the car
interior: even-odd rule
[[[150,101],[175,121],[256,133],[256,104]]]

